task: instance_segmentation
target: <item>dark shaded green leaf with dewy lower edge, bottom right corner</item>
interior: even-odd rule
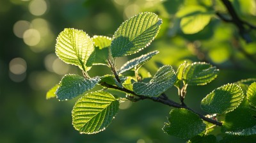
[[[221,130],[233,135],[253,135],[256,134],[256,119],[252,111],[246,107],[237,108],[228,112]]]

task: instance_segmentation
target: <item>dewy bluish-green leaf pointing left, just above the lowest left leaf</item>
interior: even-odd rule
[[[65,75],[56,91],[58,100],[70,100],[92,89],[100,81],[99,77],[84,79],[79,75]]]

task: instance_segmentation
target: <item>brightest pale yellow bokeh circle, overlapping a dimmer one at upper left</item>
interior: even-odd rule
[[[28,29],[23,34],[23,40],[29,46],[37,45],[40,39],[40,33],[36,29]]]

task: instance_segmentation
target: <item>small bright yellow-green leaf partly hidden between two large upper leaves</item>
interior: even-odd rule
[[[95,47],[99,47],[99,49],[105,49],[110,47],[112,39],[108,36],[93,36],[92,41]]]

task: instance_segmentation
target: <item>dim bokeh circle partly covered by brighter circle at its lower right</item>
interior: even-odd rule
[[[23,34],[31,27],[31,24],[26,20],[19,20],[13,25],[13,33],[19,38],[23,38]]]

